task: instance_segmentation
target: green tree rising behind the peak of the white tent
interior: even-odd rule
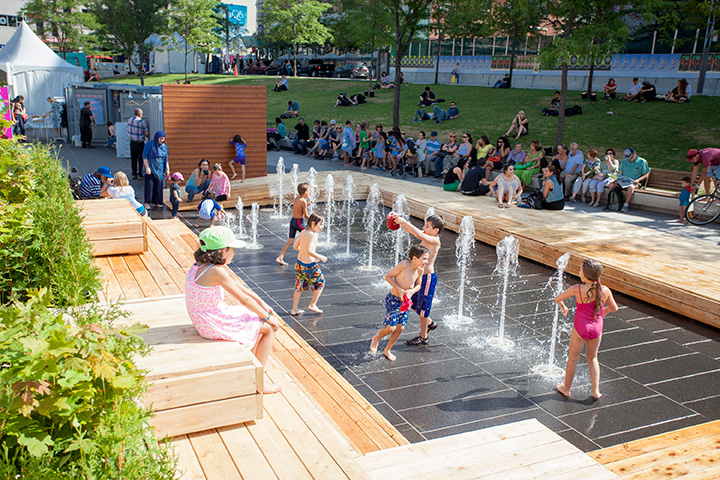
[[[32,18],[40,36],[57,39],[55,45],[63,58],[88,43],[82,27],[89,26],[91,18],[80,11],[75,0],[31,0],[22,14]]]

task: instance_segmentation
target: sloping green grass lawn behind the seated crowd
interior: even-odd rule
[[[183,78],[178,74],[152,75],[146,77],[146,84],[175,83]],[[382,123],[386,130],[392,125],[392,90],[376,90],[376,96],[368,98],[365,105],[333,109],[340,92],[352,95],[364,91],[368,88],[367,81],[291,78],[291,90],[276,93],[272,91],[275,85],[273,77],[190,75],[189,78],[193,84],[265,85],[268,89],[268,122],[285,111],[288,100],[292,99],[300,104],[300,112],[309,123],[315,119],[336,119],[343,123],[350,120],[353,124],[368,122],[371,128],[376,123]],[[123,76],[106,81],[138,84],[140,80],[134,76]],[[552,91],[435,85],[431,87],[437,98],[457,102],[460,118],[440,125],[428,121],[413,123],[418,96],[424,87],[424,84],[410,85],[401,94],[400,127],[410,136],[416,137],[420,130],[427,134],[437,130],[440,139],[446,141],[451,131],[470,132],[474,140],[485,134],[495,142],[507,131],[517,111],[524,110],[530,120],[530,135],[521,139],[525,147],[531,140],[551,145],[555,139],[557,117],[545,117],[540,113],[550,103]],[[447,108],[448,104],[441,107]],[[588,102],[580,100],[579,92],[570,91],[567,106],[575,104],[582,106],[583,114],[566,118],[563,140],[566,144],[577,142],[583,151],[595,148],[602,153],[612,147],[621,157],[625,148],[632,147],[651,167],[689,171],[690,164],[685,161],[688,149],[720,145],[720,98],[717,97],[693,96],[692,101],[684,105],[603,99]],[[610,111],[612,115],[608,115]],[[296,122],[290,119],[285,123],[292,131]]]

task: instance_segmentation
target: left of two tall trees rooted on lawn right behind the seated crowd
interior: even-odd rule
[[[380,5],[392,17],[395,40],[395,97],[393,99],[393,127],[400,127],[400,88],[402,58],[410,42],[430,17],[432,0],[379,0]]]

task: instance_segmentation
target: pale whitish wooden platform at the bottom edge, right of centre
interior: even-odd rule
[[[618,478],[536,419],[374,452],[359,463],[373,480]]]

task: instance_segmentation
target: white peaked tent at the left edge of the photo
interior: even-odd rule
[[[25,97],[30,115],[40,115],[50,109],[48,97],[62,97],[66,86],[83,81],[83,69],[60,58],[22,22],[0,50],[0,81]]]

